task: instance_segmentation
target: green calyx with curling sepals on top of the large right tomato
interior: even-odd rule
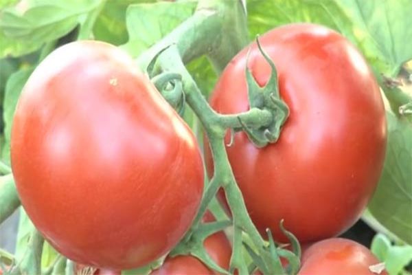
[[[282,98],[280,98],[275,64],[262,49],[258,37],[256,38],[256,43],[258,44],[260,53],[266,62],[271,66],[271,76],[269,77],[266,85],[264,85],[264,87],[260,87],[255,78],[253,78],[250,69],[246,65],[245,73],[247,78],[250,109],[257,108],[270,111],[273,115],[273,120],[267,126],[260,126],[259,128],[247,126],[247,124],[244,124],[240,117],[238,117],[238,120],[242,125],[242,129],[247,133],[253,144],[258,147],[264,147],[267,144],[277,142],[279,139],[282,126],[286,122],[289,115],[289,108]],[[250,51],[247,54],[247,60],[249,60],[249,54]]]

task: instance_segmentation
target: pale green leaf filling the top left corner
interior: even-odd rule
[[[0,12],[0,57],[37,50],[69,33],[100,7],[102,0],[33,0]]]

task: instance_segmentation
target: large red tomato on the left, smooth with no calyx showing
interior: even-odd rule
[[[97,41],[69,43],[38,65],[16,107],[11,157],[45,239],[111,270],[167,253],[203,192],[190,128],[127,54]]]

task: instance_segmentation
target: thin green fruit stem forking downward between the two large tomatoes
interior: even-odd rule
[[[207,206],[209,205],[211,198],[214,197],[218,188],[222,186],[227,194],[229,206],[233,214],[234,225],[238,228],[242,228],[253,240],[255,247],[258,249],[260,255],[264,258],[266,265],[268,265],[268,271],[275,273],[275,267],[271,265],[270,255],[264,249],[264,240],[260,233],[253,225],[249,213],[242,199],[242,193],[236,180],[234,179],[227,152],[225,148],[224,137],[227,127],[238,126],[238,120],[233,119],[233,116],[218,115],[207,103],[201,91],[198,89],[192,76],[187,72],[179,52],[170,47],[166,50],[158,59],[161,68],[165,72],[179,72],[183,80],[183,91],[186,94],[186,102],[190,105],[196,116],[199,118],[203,127],[207,133],[209,144],[211,147],[211,153],[214,158],[214,179],[205,191],[205,197],[201,202],[201,208],[198,211],[196,219],[193,223],[192,230],[196,230],[201,217],[205,213]],[[253,118],[255,115],[262,114],[259,111],[251,111],[250,113],[243,113],[245,120],[253,122],[254,126],[259,126],[258,122],[269,122],[271,120],[260,120]],[[249,115],[251,116],[249,118]],[[231,125],[229,122],[233,122]],[[264,126],[264,125],[260,125]]]

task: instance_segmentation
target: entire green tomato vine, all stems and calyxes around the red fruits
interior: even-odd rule
[[[80,23],[77,39],[89,39],[93,24],[104,4],[95,7],[89,17]],[[242,198],[242,192],[236,183],[235,175],[227,154],[225,137],[229,132],[244,131],[256,147],[264,147],[275,143],[279,138],[284,122],[288,118],[289,109],[279,95],[277,87],[277,72],[271,59],[265,54],[265,49],[258,46],[262,56],[271,66],[271,77],[264,87],[260,87],[251,72],[245,67],[248,83],[249,111],[235,114],[220,114],[211,108],[201,89],[187,69],[187,64],[200,56],[207,56],[215,71],[221,73],[245,45],[249,43],[247,30],[247,14],[242,1],[199,0],[194,14],[178,25],[170,34],[141,53],[135,63],[148,76],[161,92],[163,98],[181,115],[185,106],[190,107],[200,121],[207,135],[207,140],[213,155],[214,175],[211,177],[192,227],[181,242],[174,247],[169,256],[191,255],[200,259],[207,267],[222,274],[250,274],[256,270],[264,274],[296,274],[299,270],[301,248],[295,236],[279,224],[282,233],[292,243],[290,250],[275,244],[272,232],[267,230],[266,236],[253,224]],[[38,63],[43,60],[58,45],[56,40],[49,41],[39,54]],[[376,72],[376,78],[385,95],[389,99],[391,109],[398,116],[411,113],[412,98],[398,89],[391,78]],[[231,142],[230,142],[231,143]],[[7,219],[20,205],[19,195],[14,184],[11,168],[0,162],[0,223]],[[212,199],[218,190],[225,190],[232,217],[221,221],[203,223],[202,218],[207,212]],[[229,270],[220,267],[211,259],[204,246],[208,236],[233,225],[233,250]],[[18,263],[13,263],[6,274],[73,274],[75,263],[58,256],[47,270],[41,269],[41,256],[45,239],[34,229],[30,233],[27,251]],[[244,252],[248,252],[253,263],[247,265]],[[3,253],[0,256],[14,257]],[[282,265],[281,258],[287,259],[288,267]],[[1,259],[0,259],[1,260]],[[164,260],[150,263],[142,267],[141,272],[149,272],[159,266]],[[1,262],[1,261],[0,261]]]

